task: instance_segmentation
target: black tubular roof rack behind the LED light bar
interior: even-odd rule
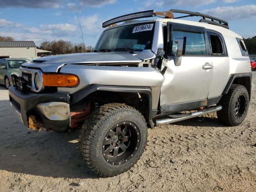
[[[181,17],[175,17],[174,19],[199,16],[199,17],[202,17],[202,19],[199,20],[199,22],[204,22],[204,23],[209,23],[209,24],[212,24],[212,25],[217,25],[217,26],[221,26],[221,27],[224,27],[224,28],[227,28],[227,29],[229,28],[227,21],[216,18],[216,17],[213,17],[213,16],[210,16],[210,15],[206,15],[206,14],[202,14],[202,13],[198,13],[198,12],[192,12],[192,11],[178,10],[178,9],[171,9],[170,12],[188,14],[188,15],[181,16]],[[210,20],[207,20],[206,18],[208,18]]]

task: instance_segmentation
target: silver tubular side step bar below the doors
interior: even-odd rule
[[[222,110],[222,106],[219,105],[219,106],[215,106],[215,107],[205,109],[205,110],[202,110],[202,111],[193,112],[193,113],[190,113],[188,116],[184,116],[184,117],[180,117],[180,118],[157,119],[156,120],[156,126],[169,124],[169,123],[175,123],[175,122],[178,122],[178,121],[191,119],[191,118],[194,118],[194,117],[198,117],[198,116],[205,115],[205,114],[208,114],[208,113],[213,113],[213,112],[220,111],[220,110]]]

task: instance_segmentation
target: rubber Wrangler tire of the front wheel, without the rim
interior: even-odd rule
[[[114,125],[127,122],[136,125],[135,128],[140,132],[138,134],[140,144],[127,162],[112,165],[104,159],[103,141]],[[142,114],[131,106],[111,103],[100,106],[84,122],[79,136],[79,149],[87,166],[94,173],[102,177],[110,177],[126,172],[134,166],[144,151],[146,141],[147,126]]]

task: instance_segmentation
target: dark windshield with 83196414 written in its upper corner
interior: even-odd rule
[[[120,26],[106,30],[95,46],[97,51],[151,49],[154,22]]]

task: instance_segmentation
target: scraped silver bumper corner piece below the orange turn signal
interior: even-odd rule
[[[62,121],[70,118],[69,104],[65,102],[40,103],[36,107],[50,120]]]

